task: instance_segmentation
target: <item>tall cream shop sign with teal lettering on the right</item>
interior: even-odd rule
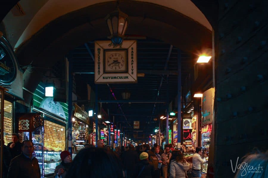
[[[212,123],[214,96],[215,96],[215,88],[210,88],[203,93],[202,112],[201,112],[202,126]]]

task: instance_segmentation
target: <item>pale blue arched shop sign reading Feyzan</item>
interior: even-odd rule
[[[39,107],[66,120],[66,116],[62,106],[60,105],[59,102],[54,101],[52,97],[47,97],[43,99]]]

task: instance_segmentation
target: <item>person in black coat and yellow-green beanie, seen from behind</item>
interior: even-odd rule
[[[148,159],[148,153],[142,152],[140,154],[140,161],[135,168],[134,178],[152,178],[153,171],[154,167]]]

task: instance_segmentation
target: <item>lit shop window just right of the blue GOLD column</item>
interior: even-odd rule
[[[73,152],[77,154],[88,143],[88,125],[73,118],[72,138]]]

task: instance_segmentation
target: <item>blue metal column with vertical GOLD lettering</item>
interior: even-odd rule
[[[73,93],[73,59],[72,55],[68,58],[69,60],[69,74],[68,74],[68,152],[72,157],[72,93]]]

